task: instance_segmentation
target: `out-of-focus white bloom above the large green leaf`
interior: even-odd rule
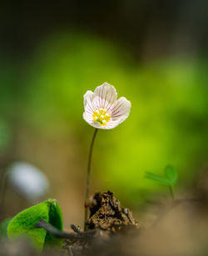
[[[13,163],[8,171],[9,181],[28,200],[37,200],[47,193],[47,176],[31,164]]]

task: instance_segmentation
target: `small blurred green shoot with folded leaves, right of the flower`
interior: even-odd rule
[[[156,175],[155,173],[146,172],[145,177],[154,180],[156,183],[160,183],[161,185],[169,188],[171,198],[174,200],[173,187],[176,184],[178,175],[176,169],[171,164],[168,164],[166,166],[164,176],[159,176]]]

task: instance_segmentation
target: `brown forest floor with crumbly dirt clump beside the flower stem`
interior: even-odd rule
[[[207,173],[186,196],[173,202],[151,203],[146,211],[156,213],[147,225],[137,222],[130,209],[122,208],[113,193],[96,193],[90,205],[87,231],[72,225],[72,233],[61,233],[50,224],[37,223],[37,227],[65,238],[61,251],[47,248],[37,253],[25,239],[5,240],[0,241],[0,256],[207,255]]]

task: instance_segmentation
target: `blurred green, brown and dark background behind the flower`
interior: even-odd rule
[[[111,190],[139,214],[166,188],[144,178],[171,163],[176,193],[208,168],[208,3],[5,1],[0,8],[0,167],[47,175],[65,227],[82,225],[93,128],[83,94],[103,82],[131,101],[119,127],[99,131],[91,193]],[[4,216],[32,203],[6,182]]]

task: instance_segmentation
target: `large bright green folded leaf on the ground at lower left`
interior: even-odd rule
[[[42,249],[43,245],[61,245],[62,240],[52,237],[43,228],[34,227],[41,218],[62,230],[62,210],[55,199],[48,199],[23,210],[12,218],[7,226],[8,238],[13,239],[20,235],[27,235],[32,239],[34,246],[39,249]]]

